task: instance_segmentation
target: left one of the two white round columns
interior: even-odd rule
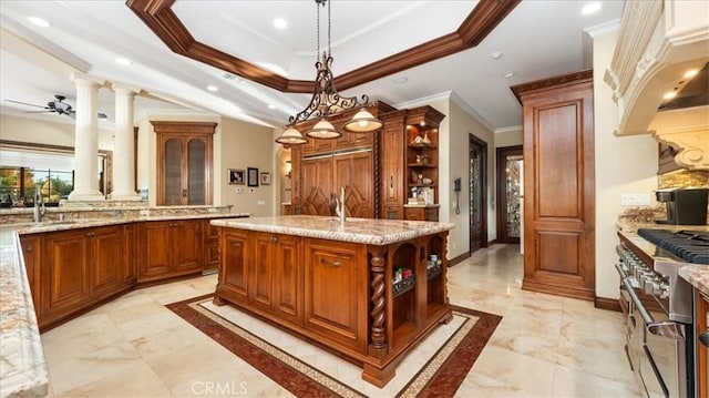
[[[72,76],[76,85],[76,130],[74,134],[74,191],[69,201],[105,201],[99,191],[99,88],[103,81],[86,75]]]

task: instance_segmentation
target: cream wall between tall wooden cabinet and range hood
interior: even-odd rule
[[[606,298],[617,298],[619,293],[614,268],[616,221],[628,208],[620,205],[620,194],[651,194],[657,188],[657,142],[649,134],[626,137],[613,134],[617,106],[603,76],[610,65],[615,44],[615,32],[594,37],[596,296]]]

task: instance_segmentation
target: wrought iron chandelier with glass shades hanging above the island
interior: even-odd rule
[[[306,135],[312,139],[330,140],[337,139],[342,135],[337,131],[332,123],[328,121],[328,118],[360,106],[361,109],[345,123],[343,129],[348,132],[361,133],[361,132],[374,132],[382,126],[379,119],[374,118],[364,106],[369,104],[369,96],[362,95],[361,102],[357,96],[341,96],[335,89],[335,82],[330,65],[332,64],[332,53],[330,49],[330,1],[328,0],[315,0],[318,23],[318,60],[315,63],[317,75],[312,89],[312,99],[306,109],[300,111],[294,116],[288,119],[288,125],[286,131],[276,139],[277,143],[297,145],[308,142],[306,137],[295,127],[297,123],[301,123],[311,119],[318,118],[318,122],[312,129],[306,132]],[[320,55],[320,6],[328,7],[328,49],[327,52],[322,51]]]

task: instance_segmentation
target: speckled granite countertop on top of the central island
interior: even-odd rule
[[[451,223],[380,218],[347,218],[340,223],[337,217],[312,215],[222,218],[213,220],[212,225],[368,245],[387,245],[455,227]]]

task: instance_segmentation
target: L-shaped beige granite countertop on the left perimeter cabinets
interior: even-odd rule
[[[22,211],[20,213],[25,213]],[[0,397],[43,397],[49,376],[19,235],[142,221],[245,217],[249,213],[161,214],[137,217],[48,220],[0,226]]]

